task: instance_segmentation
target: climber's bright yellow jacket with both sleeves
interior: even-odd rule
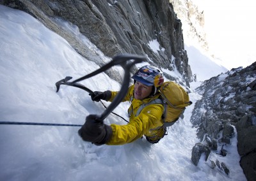
[[[113,101],[118,92],[111,92],[111,99]],[[158,97],[158,96],[157,96]],[[113,129],[113,135],[111,139],[106,143],[107,145],[123,145],[125,143],[131,143],[132,141],[141,138],[143,134],[147,136],[150,140],[158,140],[163,138],[164,129],[163,129],[163,105],[154,104],[148,105],[140,112],[136,117],[136,112],[140,105],[143,103],[148,103],[154,98],[147,98],[143,100],[138,100],[134,98],[134,85],[129,87],[129,91],[125,96],[124,101],[131,101],[131,106],[129,107],[129,112],[131,117],[129,118],[129,123],[127,125],[116,125],[111,124]]]

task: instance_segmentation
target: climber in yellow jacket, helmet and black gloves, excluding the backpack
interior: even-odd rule
[[[134,84],[123,101],[131,101],[128,109],[129,123],[126,125],[104,124],[98,115],[88,115],[86,122],[78,133],[84,141],[90,141],[95,145],[123,145],[131,143],[143,135],[150,143],[157,143],[163,138],[166,129],[163,127],[162,104],[151,104],[145,106],[136,115],[136,112],[145,103],[159,97],[158,89],[164,82],[163,73],[154,66],[143,66],[133,76]],[[118,92],[95,91],[90,94],[93,101],[113,101]]]

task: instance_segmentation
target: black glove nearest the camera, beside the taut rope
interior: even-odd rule
[[[112,136],[112,128],[99,120],[98,115],[88,115],[81,129],[78,130],[79,136],[84,141],[90,141],[95,145],[103,145],[109,141]]]

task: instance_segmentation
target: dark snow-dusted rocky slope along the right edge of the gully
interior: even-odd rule
[[[255,180],[256,62],[213,77],[196,90],[202,99],[195,103],[191,122],[198,127],[198,137],[206,140],[208,147],[217,140],[222,145],[220,154],[225,156],[223,145],[230,143],[235,126],[241,167],[248,180]]]

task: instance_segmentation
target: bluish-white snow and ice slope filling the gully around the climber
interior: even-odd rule
[[[74,25],[64,21],[60,24],[79,34]],[[85,46],[92,45],[80,36]],[[0,121],[83,124],[87,115],[104,112],[104,107],[81,89],[61,85],[56,92],[55,83],[65,76],[75,80],[99,66],[77,54],[66,40],[38,20],[0,5],[0,40]],[[100,52],[95,46],[91,49]],[[99,58],[109,61],[102,52]],[[212,62],[205,66],[212,66]],[[216,75],[222,71],[218,68]],[[120,66],[115,69],[122,72]],[[207,69],[195,73],[202,78],[208,76]],[[105,73],[79,83],[93,91],[118,91],[121,86]],[[191,83],[189,97],[193,103],[200,99],[194,91],[196,86],[198,82]],[[0,180],[246,180],[239,165],[237,136],[225,146],[226,157],[216,154],[219,149],[211,152],[207,161],[202,156],[198,166],[191,162],[191,150],[199,141],[190,122],[194,105],[154,145],[142,138],[126,145],[96,146],[78,136],[79,127],[0,124]],[[114,112],[128,119],[128,106],[121,103]],[[104,122],[126,124],[113,114]],[[225,163],[230,175],[218,168],[212,170],[210,159]]]

